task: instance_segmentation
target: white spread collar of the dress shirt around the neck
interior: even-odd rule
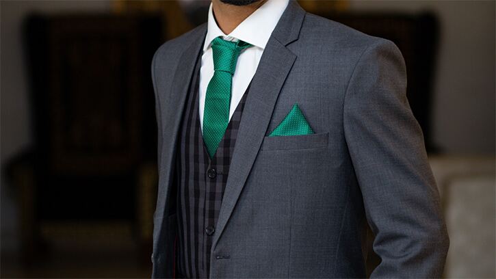
[[[224,34],[218,27],[215,18],[213,18],[212,3],[210,3],[207,36],[203,44],[203,51],[206,51],[210,47],[212,40],[218,36],[222,36],[224,40],[242,40],[255,47],[265,49],[265,45],[267,45],[270,35],[274,31],[280,16],[283,15],[288,2],[289,0],[267,0],[242,23],[239,23],[229,35]]]

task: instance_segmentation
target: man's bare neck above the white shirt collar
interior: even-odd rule
[[[224,34],[230,34],[239,23],[256,11],[267,0],[260,0],[248,5],[229,5],[220,0],[212,0],[213,17]]]

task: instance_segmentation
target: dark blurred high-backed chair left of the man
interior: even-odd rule
[[[157,184],[151,59],[161,26],[154,14],[27,18],[34,144],[8,171],[27,262],[47,252],[47,233],[98,226],[102,237],[130,233],[149,262]]]

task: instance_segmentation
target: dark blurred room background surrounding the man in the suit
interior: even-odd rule
[[[495,278],[495,1],[299,2],[400,48],[451,239],[445,277]],[[2,278],[151,276],[151,58],[208,7],[0,0]]]

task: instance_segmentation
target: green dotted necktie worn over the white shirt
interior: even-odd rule
[[[207,86],[203,112],[203,142],[207,146],[210,157],[216,154],[229,123],[231,87],[237,57],[243,49],[251,46],[242,40],[229,42],[220,37],[212,40],[214,72]]]

